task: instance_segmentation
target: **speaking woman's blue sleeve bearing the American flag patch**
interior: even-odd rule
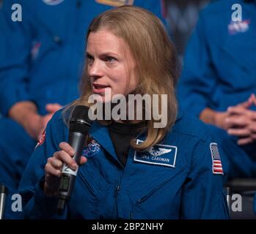
[[[211,139],[211,140],[210,140]],[[182,219],[228,219],[223,175],[214,174],[210,143],[213,138],[198,143],[191,159],[188,180],[183,186]]]

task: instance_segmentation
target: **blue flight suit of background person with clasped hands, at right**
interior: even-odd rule
[[[241,22],[232,20],[238,16],[232,10],[233,4],[241,4]],[[245,102],[255,94],[255,38],[256,1],[214,1],[202,10],[178,84],[183,110],[193,116],[200,116],[205,107],[226,111],[227,107]],[[228,176],[255,177],[255,143],[238,146],[237,137],[217,127],[211,129],[224,151]]]

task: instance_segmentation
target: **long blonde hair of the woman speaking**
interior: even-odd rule
[[[89,25],[87,39],[91,32],[102,29],[123,39],[135,59],[136,77],[139,79],[136,94],[149,94],[150,97],[153,97],[153,94],[167,94],[168,102],[165,108],[167,126],[154,128],[154,123],[157,121],[153,119],[151,111],[151,120],[145,121],[147,129],[145,141],[136,144],[135,139],[131,140],[131,147],[136,151],[144,151],[163,139],[175,123],[178,113],[175,86],[178,82],[179,65],[175,47],[169,40],[161,20],[153,13],[139,7],[122,6],[98,15]],[[87,61],[81,78],[80,91],[81,97],[68,105],[65,113],[67,110],[71,110],[68,112],[72,113],[76,105],[92,105],[88,103],[88,98],[93,92],[87,72]],[[161,98],[158,104],[161,107]],[[102,124],[109,123],[110,121],[102,121]]]

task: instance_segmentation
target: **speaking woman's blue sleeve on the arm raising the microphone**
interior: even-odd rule
[[[44,168],[48,157],[59,151],[60,142],[67,141],[64,137],[65,125],[60,111],[49,121],[45,130],[45,141],[35,148],[21,178],[19,192],[27,219],[65,219],[67,217],[67,211],[62,216],[56,214],[56,197],[46,197],[40,186],[45,176]]]

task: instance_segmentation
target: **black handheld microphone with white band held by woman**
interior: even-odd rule
[[[70,118],[70,132],[68,137],[68,143],[73,147],[75,154],[73,159],[79,165],[81,153],[84,148],[84,143],[86,137],[89,133],[89,128],[92,121],[88,116],[89,107],[84,105],[78,105],[73,110],[72,117]],[[76,181],[78,169],[76,171],[72,170],[67,165],[62,167],[62,177],[59,184],[59,200],[57,209],[59,213],[65,208],[65,204],[70,200],[70,196],[73,191],[73,186]]]

